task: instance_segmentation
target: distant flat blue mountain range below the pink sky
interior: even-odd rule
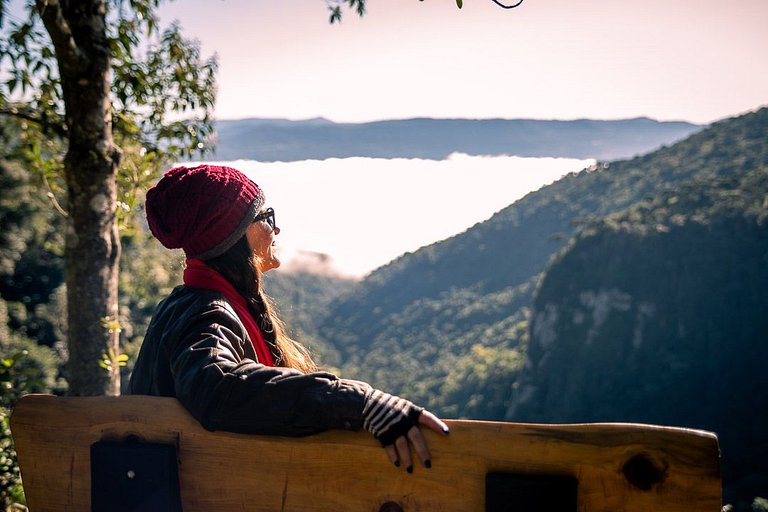
[[[700,130],[647,118],[404,119],[334,123],[327,119],[218,121],[212,160],[297,161],[378,157],[442,160],[454,152],[616,160],[672,144]]]

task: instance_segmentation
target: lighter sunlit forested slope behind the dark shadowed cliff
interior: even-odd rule
[[[742,174],[765,165],[767,127],[768,109],[761,109],[674,146],[598,164],[528,194],[488,221],[372,273],[334,304],[321,335],[339,348],[349,373],[408,392],[441,412],[445,406],[451,414],[498,417],[482,405],[465,410],[464,404],[476,403],[470,396],[445,403],[441,390],[453,385],[457,358],[482,367],[474,354],[525,351],[532,291],[550,257],[591,219],[696,177]],[[506,368],[504,380],[484,374],[481,394],[508,397],[517,366]]]

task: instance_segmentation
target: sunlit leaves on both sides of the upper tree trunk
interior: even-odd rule
[[[123,155],[117,173],[121,229],[130,229],[142,191],[167,162],[211,149],[216,57],[203,60],[199,44],[185,39],[178,24],[160,32],[158,4],[143,0],[128,7],[117,1],[107,17],[112,135]],[[23,121],[6,154],[39,177],[53,204],[66,215],[63,159],[69,130],[61,80],[34,2],[27,11],[27,21],[3,27],[8,37],[0,44],[0,63],[7,61],[10,76],[0,86],[0,113]],[[23,100],[12,102],[14,95]]]

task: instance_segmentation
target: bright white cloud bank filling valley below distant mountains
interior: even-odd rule
[[[281,228],[277,241],[286,267],[293,255],[318,253],[329,258],[324,268],[355,276],[458,234],[593,163],[459,153],[442,161],[225,162],[264,189]]]

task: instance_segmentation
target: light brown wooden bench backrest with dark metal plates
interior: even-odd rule
[[[100,508],[122,510],[136,499],[126,497],[125,484],[146,471],[150,480],[176,486],[170,492],[177,497],[164,499],[180,507],[164,509],[185,512],[721,509],[718,442],[709,432],[447,423],[449,436],[425,434],[433,467],[415,464],[412,474],[392,466],[365,432],[305,438],[208,432],[172,398],[28,395],[14,408],[11,431],[31,512],[91,510],[92,496]],[[170,452],[141,455],[156,444]],[[121,447],[138,458],[126,462]],[[169,458],[170,473],[158,476]],[[148,470],[138,464],[149,460]],[[112,506],[104,508],[110,498]]]

